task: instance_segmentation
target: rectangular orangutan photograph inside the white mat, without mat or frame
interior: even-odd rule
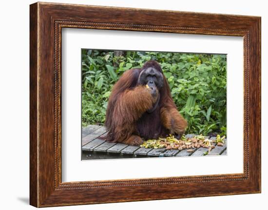
[[[82,160],[227,153],[227,55],[92,49],[81,54]]]

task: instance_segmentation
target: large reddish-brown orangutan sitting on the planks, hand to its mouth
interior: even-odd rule
[[[168,81],[156,61],[126,71],[115,83],[105,126],[109,130],[107,141],[130,145],[142,144],[142,138],[184,133],[187,121],[177,111]]]

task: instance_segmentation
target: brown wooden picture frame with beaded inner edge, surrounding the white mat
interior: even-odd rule
[[[63,27],[243,37],[244,172],[62,183],[60,98]],[[259,192],[260,17],[39,2],[30,5],[31,205],[49,207]]]

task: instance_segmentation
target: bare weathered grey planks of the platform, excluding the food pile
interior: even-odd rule
[[[89,125],[82,129],[82,152],[87,153],[87,157],[82,159],[109,159],[109,158],[129,158],[129,157],[173,157],[173,156],[202,156],[208,152],[207,148],[200,147],[193,149],[192,153],[187,150],[166,150],[161,149],[146,149],[138,146],[131,146],[122,143],[110,143],[100,136],[107,133],[105,127],[97,125]],[[192,134],[187,134],[186,137],[191,137]],[[213,140],[215,137],[211,137]],[[223,146],[217,146],[211,150],[208,155],[226,155],[227,154],[227,141]],[[98,156],[99,158],[95,158]],[[103,158],[101,155],[104,155]]]

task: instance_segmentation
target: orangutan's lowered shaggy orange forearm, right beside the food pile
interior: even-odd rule
[[[187,127],[187,121],[173,107],[162,107],[160,110],[161,122],[163,126],[170,130],[171,134],[183,134]]]

